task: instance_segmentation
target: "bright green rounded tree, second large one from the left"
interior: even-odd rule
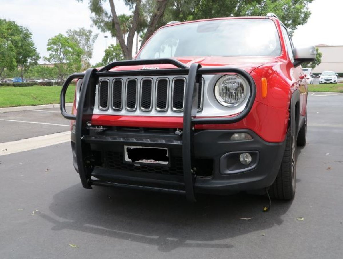
[[[57,68],[59,80],[81,70],[81,55],[83,50],[70,37],[58,34],[48,40],[48,57],[44,60]]]

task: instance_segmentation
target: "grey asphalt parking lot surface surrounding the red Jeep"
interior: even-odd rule
[[[295,199],[272,201],[265,213],[265,196],[202,195],[191,204],[83,189],[69,142],[0,154],[1,258],[342,258],[342,111],[343,94],[309,93]],[[3,147],[69,128],[59,109],[0,113]]]

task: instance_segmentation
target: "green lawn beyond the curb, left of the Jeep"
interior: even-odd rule
[[[60,103],[61,86],[0,87],[0,108]],[[70,85],[66,103],[74,101],[75,86]]]

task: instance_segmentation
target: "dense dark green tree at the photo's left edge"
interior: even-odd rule
[[[37,64],[39,54],[32,41],[32,33],[15,22],[0,19],[0,76],[19,68],[24,79],[25,72]]]

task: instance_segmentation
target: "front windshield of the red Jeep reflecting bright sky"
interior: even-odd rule
[[[184,56],[279,56],[279,34],[269,19],[227,19],[162,28],[138,59]]]

